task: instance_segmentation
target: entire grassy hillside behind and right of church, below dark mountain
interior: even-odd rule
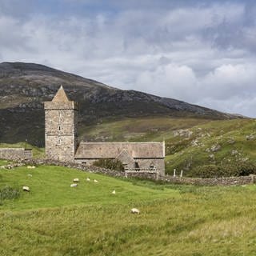
[[[176,130],[185,134],[174,135]],[[195,118],[126,118],[103,121],[80,130],[92,141],[166,141],[166,173],[190,170],[203,165],[246,161],[256,163],[256,122],[254,119],[211,121]],[[186,136],[187,132],[192,132]],[[247,135],[255,138],[247,140]],[[212,151],[214,145],[221,148]],[[232,154],[232,151],[234,153]],[[237,152],[236,152],[237,151]]]

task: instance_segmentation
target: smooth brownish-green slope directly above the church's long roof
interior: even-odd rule
[[[199,118],[124,118],[122,120],[103,119],[96,126],[79,127],[82,139],[90,141],[162,141],[173,130],[186,129],[210,122]]]

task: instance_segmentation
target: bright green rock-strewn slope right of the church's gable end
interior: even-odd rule
[[[189,137],[174,136],[166,140],[166,172],[190,170],[208,164],[236,162],[256,163],[256,122],[254,119],[212,121],[190,128]],[[255,138],[248,140],[246,136]],[[210,150],[219,145],[217,151]],[[187,168],[189,166],[189,168]]]

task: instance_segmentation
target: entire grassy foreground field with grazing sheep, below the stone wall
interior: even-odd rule
[[[70,188],[73,178],[80,182]],[[173,186],[57,166],[0,170],[0,190],[24,185],[30,193],[0,206],[1,256],[256,254],[255,186]]]

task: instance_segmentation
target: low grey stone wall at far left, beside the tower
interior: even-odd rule
[[[0,148],[0,159],[23,160],[31,159],[32,150],[24,148]]]

